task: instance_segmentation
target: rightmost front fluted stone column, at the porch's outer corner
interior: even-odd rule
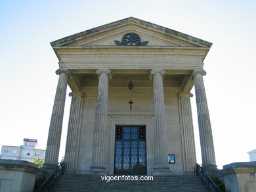
[[[205,166],[205,168],[216,168],[211,121],[207,106],[205,88],[203,85],[203,75],[206,75],[206,72],[204,70],[196,70],[192,75],[194,76],[196,107],[198,109],[202,166]]]

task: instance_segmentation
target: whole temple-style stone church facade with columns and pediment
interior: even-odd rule
[[[193,172],[193,86],[203,166],[216,167],[203,85],[211,43],[131,17],[51,45],[59,80],[46,167],[58,163],[67,86],[72,90],[65,153],[69,172]]]

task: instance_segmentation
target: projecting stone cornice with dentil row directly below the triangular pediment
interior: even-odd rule
[[[209,51],[205,47],[127,47],[127,46],[98,46],[98,47],[56,47],[58,60],[72,58],[198,58],[202,62]]]

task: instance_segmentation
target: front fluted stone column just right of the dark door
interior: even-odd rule
[[[154,172],[169,171],[167,164],[167,138],[165,121],[165,101],[163,96],[163,74],[162,69],[152,69],[153,99],[154,99]]]

